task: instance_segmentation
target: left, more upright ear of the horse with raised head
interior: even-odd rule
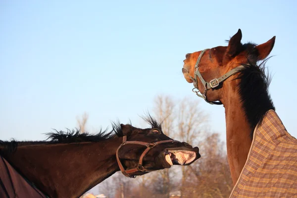
[[[240,52],[241,47],[242,47],[242,43],[241,43],[241,39],[242,39],[243,35],[241,32],[241,29],[238,29],[238,32],[231,37],[226,53],[225,55],[227,57],[234,57],[238,54],[238,52]]]

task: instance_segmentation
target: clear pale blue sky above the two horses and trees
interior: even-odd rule
[[[43,133],[110,126],[152,111],[156,95],[194,98],[225,139],[222,106],[203,102],[181,72],[185,54],[276,36],[268,63],[270,93],[297,137],[295,98],[297,2],[249,1],[0,1],[0,139],[44,140]],[[196,104],[193,104],[196,105]]]

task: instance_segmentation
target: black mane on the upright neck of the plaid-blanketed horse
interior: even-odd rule
[[[270,94],[268,93],[271,76],[268,71],[265,74],[265,63],[269,58],[266,58],[257,65],[254,56],[254,53],[250,53],[247,56],[248,64],[242,64],[245,67],[240,69],[239,77],[236,78],[241,79],[238,88],[251,128],[251,139],[256,125],[258,123],[261,124],[265,113],[270,109],[275,110]]]

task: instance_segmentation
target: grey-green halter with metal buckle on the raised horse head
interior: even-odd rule
[[[212,79],[211,81],[209,82],[206,82],[201,73],[199,72],[199,62],[200,62],[200,59],[202,58],[203,54],[205,53],[207,49],[204,49],[201,51],[200,55],[198,56],[198,59],[197,59],[197,62],[195,64],[195,68],[194,68],[194,78],[191,76],[191,79],[193,80],[193,84],[194,84],[194,87],[193,88],[193,92],[196,93],[196,95],[202,99],[204,99],[206,102],[210,103],[210,104],[222,104],[221,101],[209,101],[207,100],[206,98],[206,93],[207,93],[207,90],[210,90],[210,89],[213,89],[213,88],[216,88],[217,86],[219,86],[219,84],[221,82],[223,82],[224,80],[226,80],[227,78],[229,78],[230,76],[240,72],[240,69],[241,68],[245,68],[245,66],[243,65],[240,65],[238,67],[235,67],[234,69],[231,69],[229,72],[227,72],[226,74],[224,74],[223,76],[219,77],[219,78],[215,78],[215,79]],[[197,77],[199,77],[202,85],[204,86],[204,93],[201,93],[201,94],[198,94],[200,91],[198,89],[198,80],[197,80]],[[195,89],[197,89],[198,91],[194,91]]]

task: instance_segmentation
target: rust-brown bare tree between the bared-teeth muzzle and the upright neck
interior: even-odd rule
[[[193,192],[198,190],[197,198],[227,198],[229,197],[233,183],[224,150],[225,144],[216,133],[207,134],[200,144],[203,156],[190,166],[191,175],[185,181],[187,194],[192,197]],[[192,192],[189,195],[189,192]]]

